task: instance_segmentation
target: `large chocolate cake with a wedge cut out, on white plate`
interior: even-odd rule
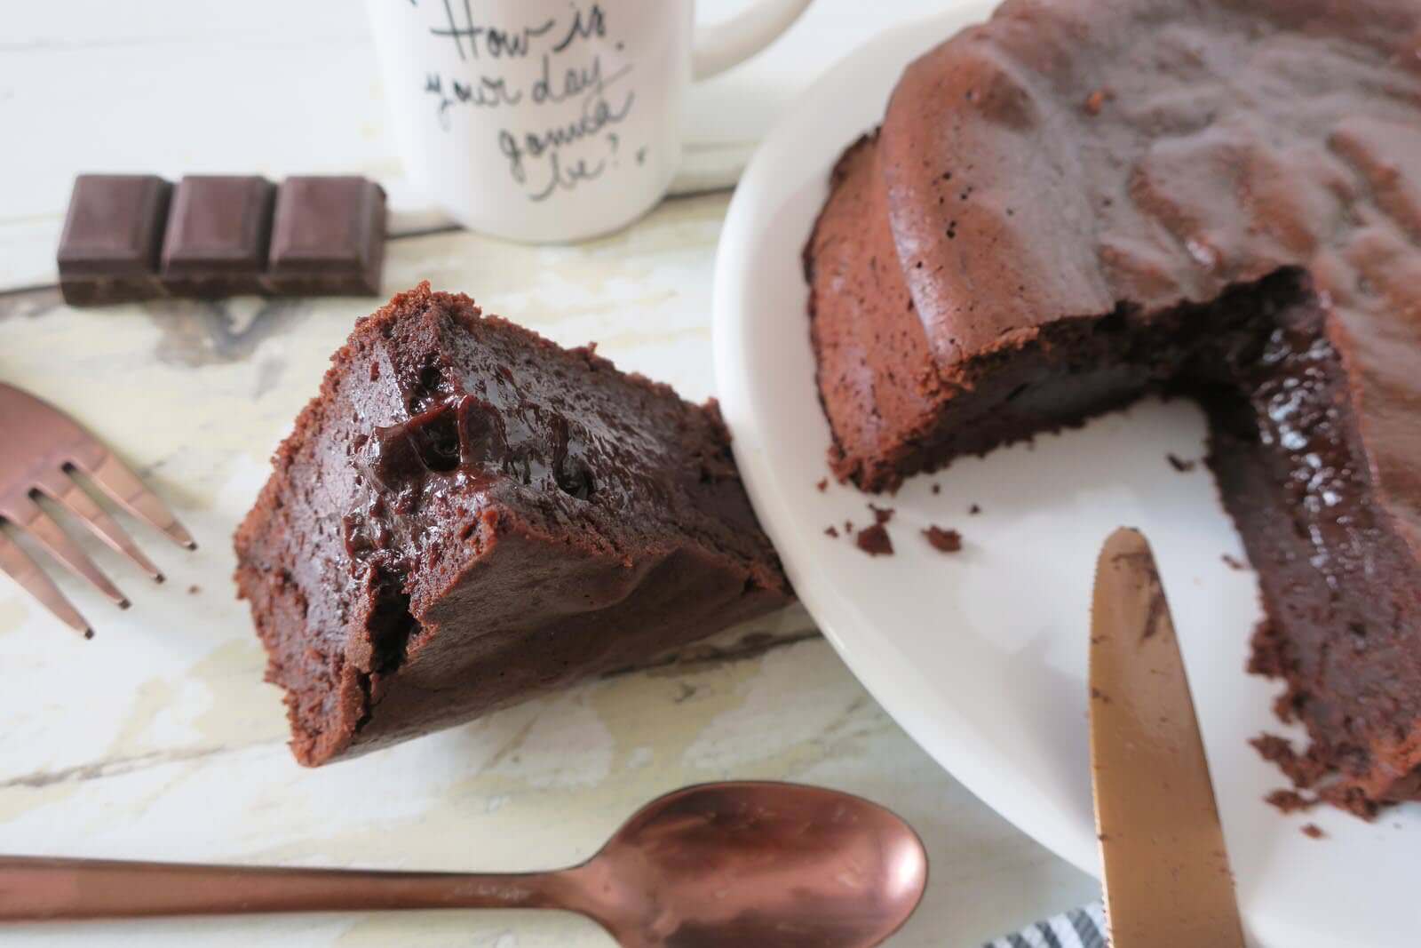
[[[806,249],[865,490],[1198,398],[1303,785],[1421,796],[1421,4],[1007,0],[908,67]]]

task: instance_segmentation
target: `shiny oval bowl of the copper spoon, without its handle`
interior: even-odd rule
[[[928,857],[868,800],[709,783],[652,800],[571,874],[625,948],[867,948],[917,908]]]

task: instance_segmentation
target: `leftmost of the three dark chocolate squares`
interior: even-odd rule
[[[158,250],[172,185],[153,175],[80,175],[55,263],[70,306],[162,296]]]

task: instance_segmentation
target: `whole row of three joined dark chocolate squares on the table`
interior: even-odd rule
[[[385,192],[355,176],[81,175],[55,254],[70,306],[379,293]]]

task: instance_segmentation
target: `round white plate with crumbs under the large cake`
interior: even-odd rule
[[[730,205],[716,260],[716,384],[755,507],[828,640],[942,766],[1009,820],[1098,874],[1086,729],[1086,625],[1096,551],[1138,526],[1179,628],[1250,937],[1276,948],[1410,945],[1421,930],[1418,809],[1373,824],[1337,812],[1285,817],[1262,802],[1282,775],[1248,746],[1285,732],[1277,686],[1243,671],[1255,577],[1206,469],[1188,404],[1144,402],[1083,431],[912,479],[895,497],[814,485],[828,425],[814,389],[800,250],[828,172],[882,117],[917,54],[989,4],[880,36],[817,82],[764,141]],[[934,495],[931,485],[941,485]],[[824,527],[892,506],[895,554],[870,559]],[[979,503],[982,513],[968,515]],[[932,550],[928,524],[966,549]],[[1296,735],[1295,735],[1296,736]],[[1300,827],[1317,823],[1326,839]]]

